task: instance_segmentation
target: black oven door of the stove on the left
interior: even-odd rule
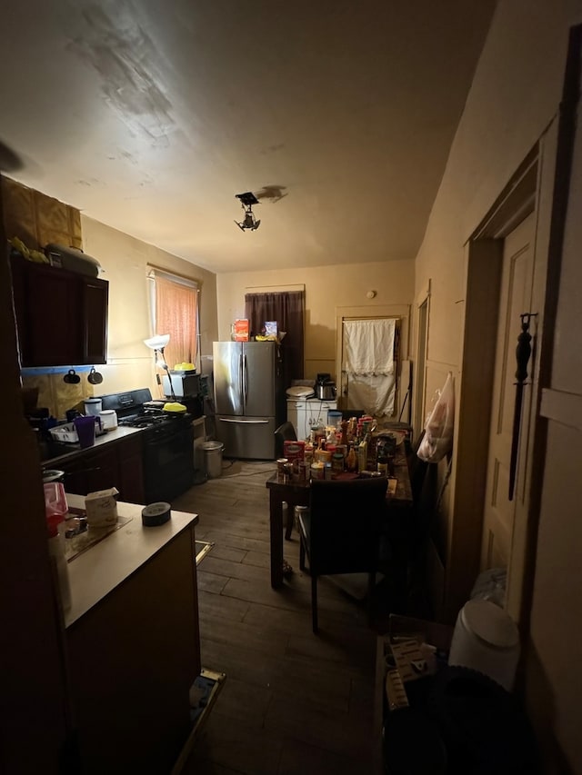
[[[194,483],[194,428],[191,423],[149,429],[144,439],[146,502],[170,502]]]

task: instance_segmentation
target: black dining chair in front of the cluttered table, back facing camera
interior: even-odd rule
[[[386,477],[314,480],[309,511],[299,517],[299,567],[311,576],[311,614],[317,633],[317,578],[368,574],[368,618],[376,585],[380,533],[386,515]]]

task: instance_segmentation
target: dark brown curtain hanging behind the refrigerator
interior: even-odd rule
[[[266,321],[276,320],[278,331],[286,331],[281,343],[285,387],[303,378],[303,321],[305,293],[246,293],[245,316],[251,336],[263,333]]]

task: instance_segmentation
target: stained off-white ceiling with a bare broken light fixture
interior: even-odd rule
[[[4,5],[6,174],[231,272],[415,257],[495,3]]]

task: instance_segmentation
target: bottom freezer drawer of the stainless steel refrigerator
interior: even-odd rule
[[[247,460],[275,460],[275,417],[216,415],[216,438],[224,456]]]

